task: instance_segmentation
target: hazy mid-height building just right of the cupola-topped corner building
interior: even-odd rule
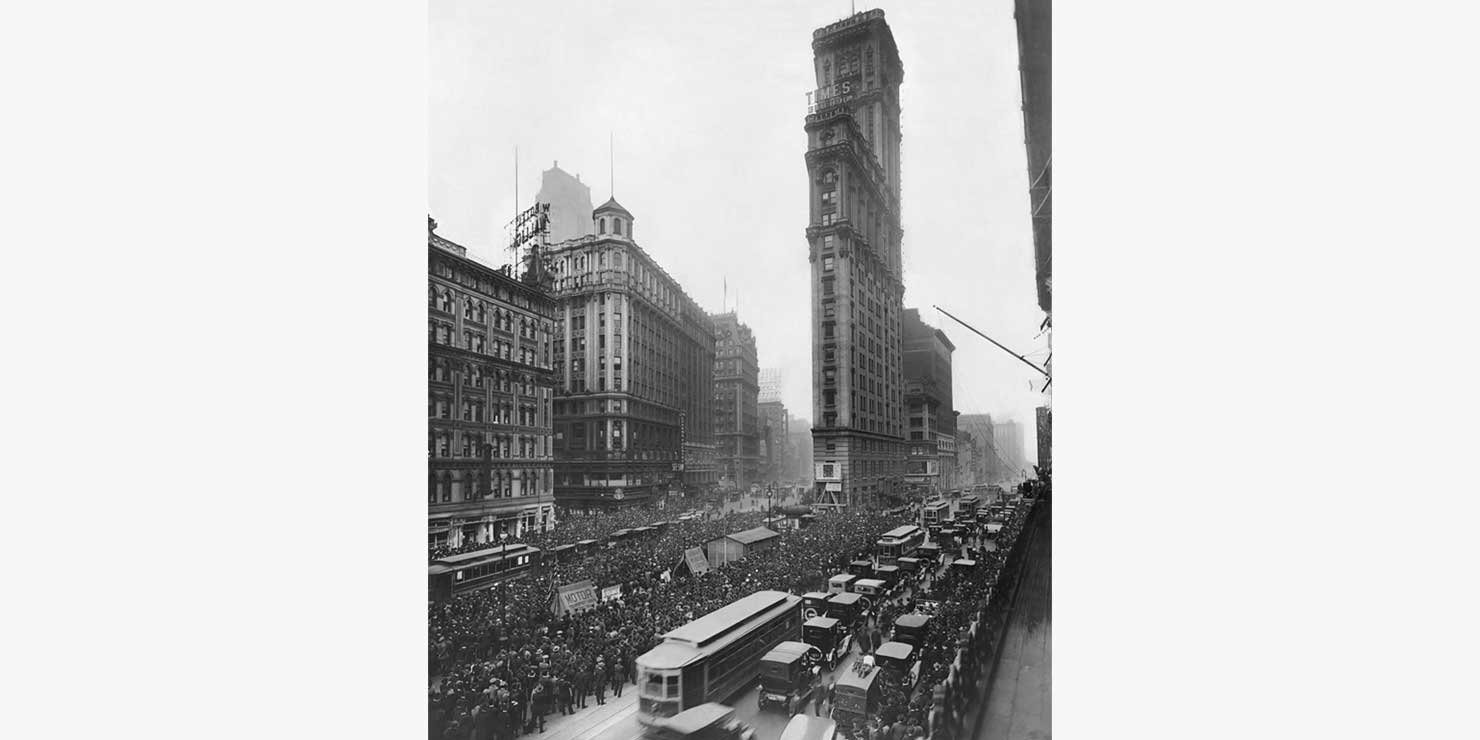
[[[755,334],[736,312],[713,317],[715,462],[721,481],[749,488],[761,477],[759,374]]]

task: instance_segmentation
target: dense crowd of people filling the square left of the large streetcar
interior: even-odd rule
[[[524,542],[549,551],[659,518],[645,508],[565,517]],[[881,531],[904,522],[879,511],[832,514],[783,531],[765,556],[699,576],[679,567],[687,548],[759,527],[762,518],[749,512],[670,522],[645,539],[431,604],[431,737],[512,740],[542,731],[549,713],[579,710],[592,699],[604,703],[607,691],[620,696],[635,681],[636,657],[665,632],[755,591],[824,588],[826,577],[866,555]],[[622,596],[554,616],[555,588],[582,580],[620,585]]]

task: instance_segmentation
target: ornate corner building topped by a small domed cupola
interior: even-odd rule
[[[633,238],[616,198],[593,234],[554,244],[555,499],[639,505],[716,482],[715,334]]]

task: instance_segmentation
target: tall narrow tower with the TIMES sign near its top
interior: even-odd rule
[[[805,118],[818,502],[901,493],[900,83],[884,10],[813,31]]]

